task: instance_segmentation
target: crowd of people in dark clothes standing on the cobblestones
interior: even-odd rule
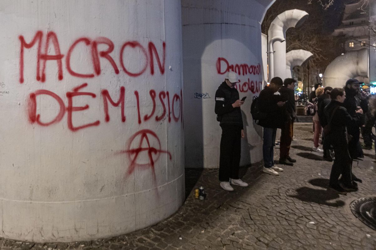
[[[237,74],[227,72],[224,82],[215,93],[215,113],[222,129],[219,180],[220,186],[227,191],[233,191],[231,184],[248,186],[239,178],[238,173],[240,143],[241,137],[244,137],[240,106],[244,99],[239,99],[235,88],[237,82]],[[282,81],[281,78],[274,77],[259,96],[253,99],[255,103],[252,104],[254,110],[251,108],[252,116],[256,124],[263,127],[262,171],[267,174],[279,175],[283,171],[274,161],[277,129],[281,130],[279,165],[293,166],[296,162],[290,156],[296,119],[295,83],[296,80],[292,78]],[[314,94],[309,97],[314,106],[312,150],[323,153],[325,160],[333,161],[329,188],[337,192],[356,191],[357,183],[362,182],[352,172],[353,160],[364,157],[360,135],[364,138],[364,147],[372,148],[376,96],[367,94],[367,87],[362,87],[360,91],[361,84],[356,79],[347,80],[344,88],[323,88],[317,84]]]

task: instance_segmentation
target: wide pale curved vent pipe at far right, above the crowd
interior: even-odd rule
[[[325,69],[323,85],[342,88],[350,78],[362,77],[368,79],[368,49],[350,51],[336,57]]]

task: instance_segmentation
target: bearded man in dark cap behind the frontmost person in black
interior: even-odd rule
[[[356,79],[349,79],[346,81],[344,87],[344,90],[346,91],[346,100],[344,101],[343,106],[351,116],[354,116],[356,110],[361,108],[361,106],[364,106],[364,100],[361,101],[356,97],[359,93],[360,84],[361,82]],[[352,159],[364,157],[359,142],[360,126],[363,126],[363,124],[360,124],[359,126],[356,124],[350,124],[347,126],[347,133],[351,136],[351,138],[349,138],[349,152]]]

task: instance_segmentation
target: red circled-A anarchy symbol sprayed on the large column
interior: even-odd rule
[[[143,129],[129,138],[127,149],[120,153],[126,153],[130,165],[127,175],[133,173],[136,167],[151,168],[155,178],[154,165],[158,161],[161,153],[165,153],[171,160],[171,153],[161,149],[161,141],[156,133],[149,129]]]

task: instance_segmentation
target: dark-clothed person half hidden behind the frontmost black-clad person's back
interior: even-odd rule
[[[318,115],[318,121],[320,122],[321,127],[325,127],[327,125],[326,117],[324,114],[324,108],[331,102],[330,91],[332,89],[333,89],[332,87],[325,87],[324,94],[317,97],[317,115]],[[321,142],[323,144],[324,160],[332,162],[334,160],[334,151],[332,150],[330,144],[325,142],[324,135],[321,135]]]

